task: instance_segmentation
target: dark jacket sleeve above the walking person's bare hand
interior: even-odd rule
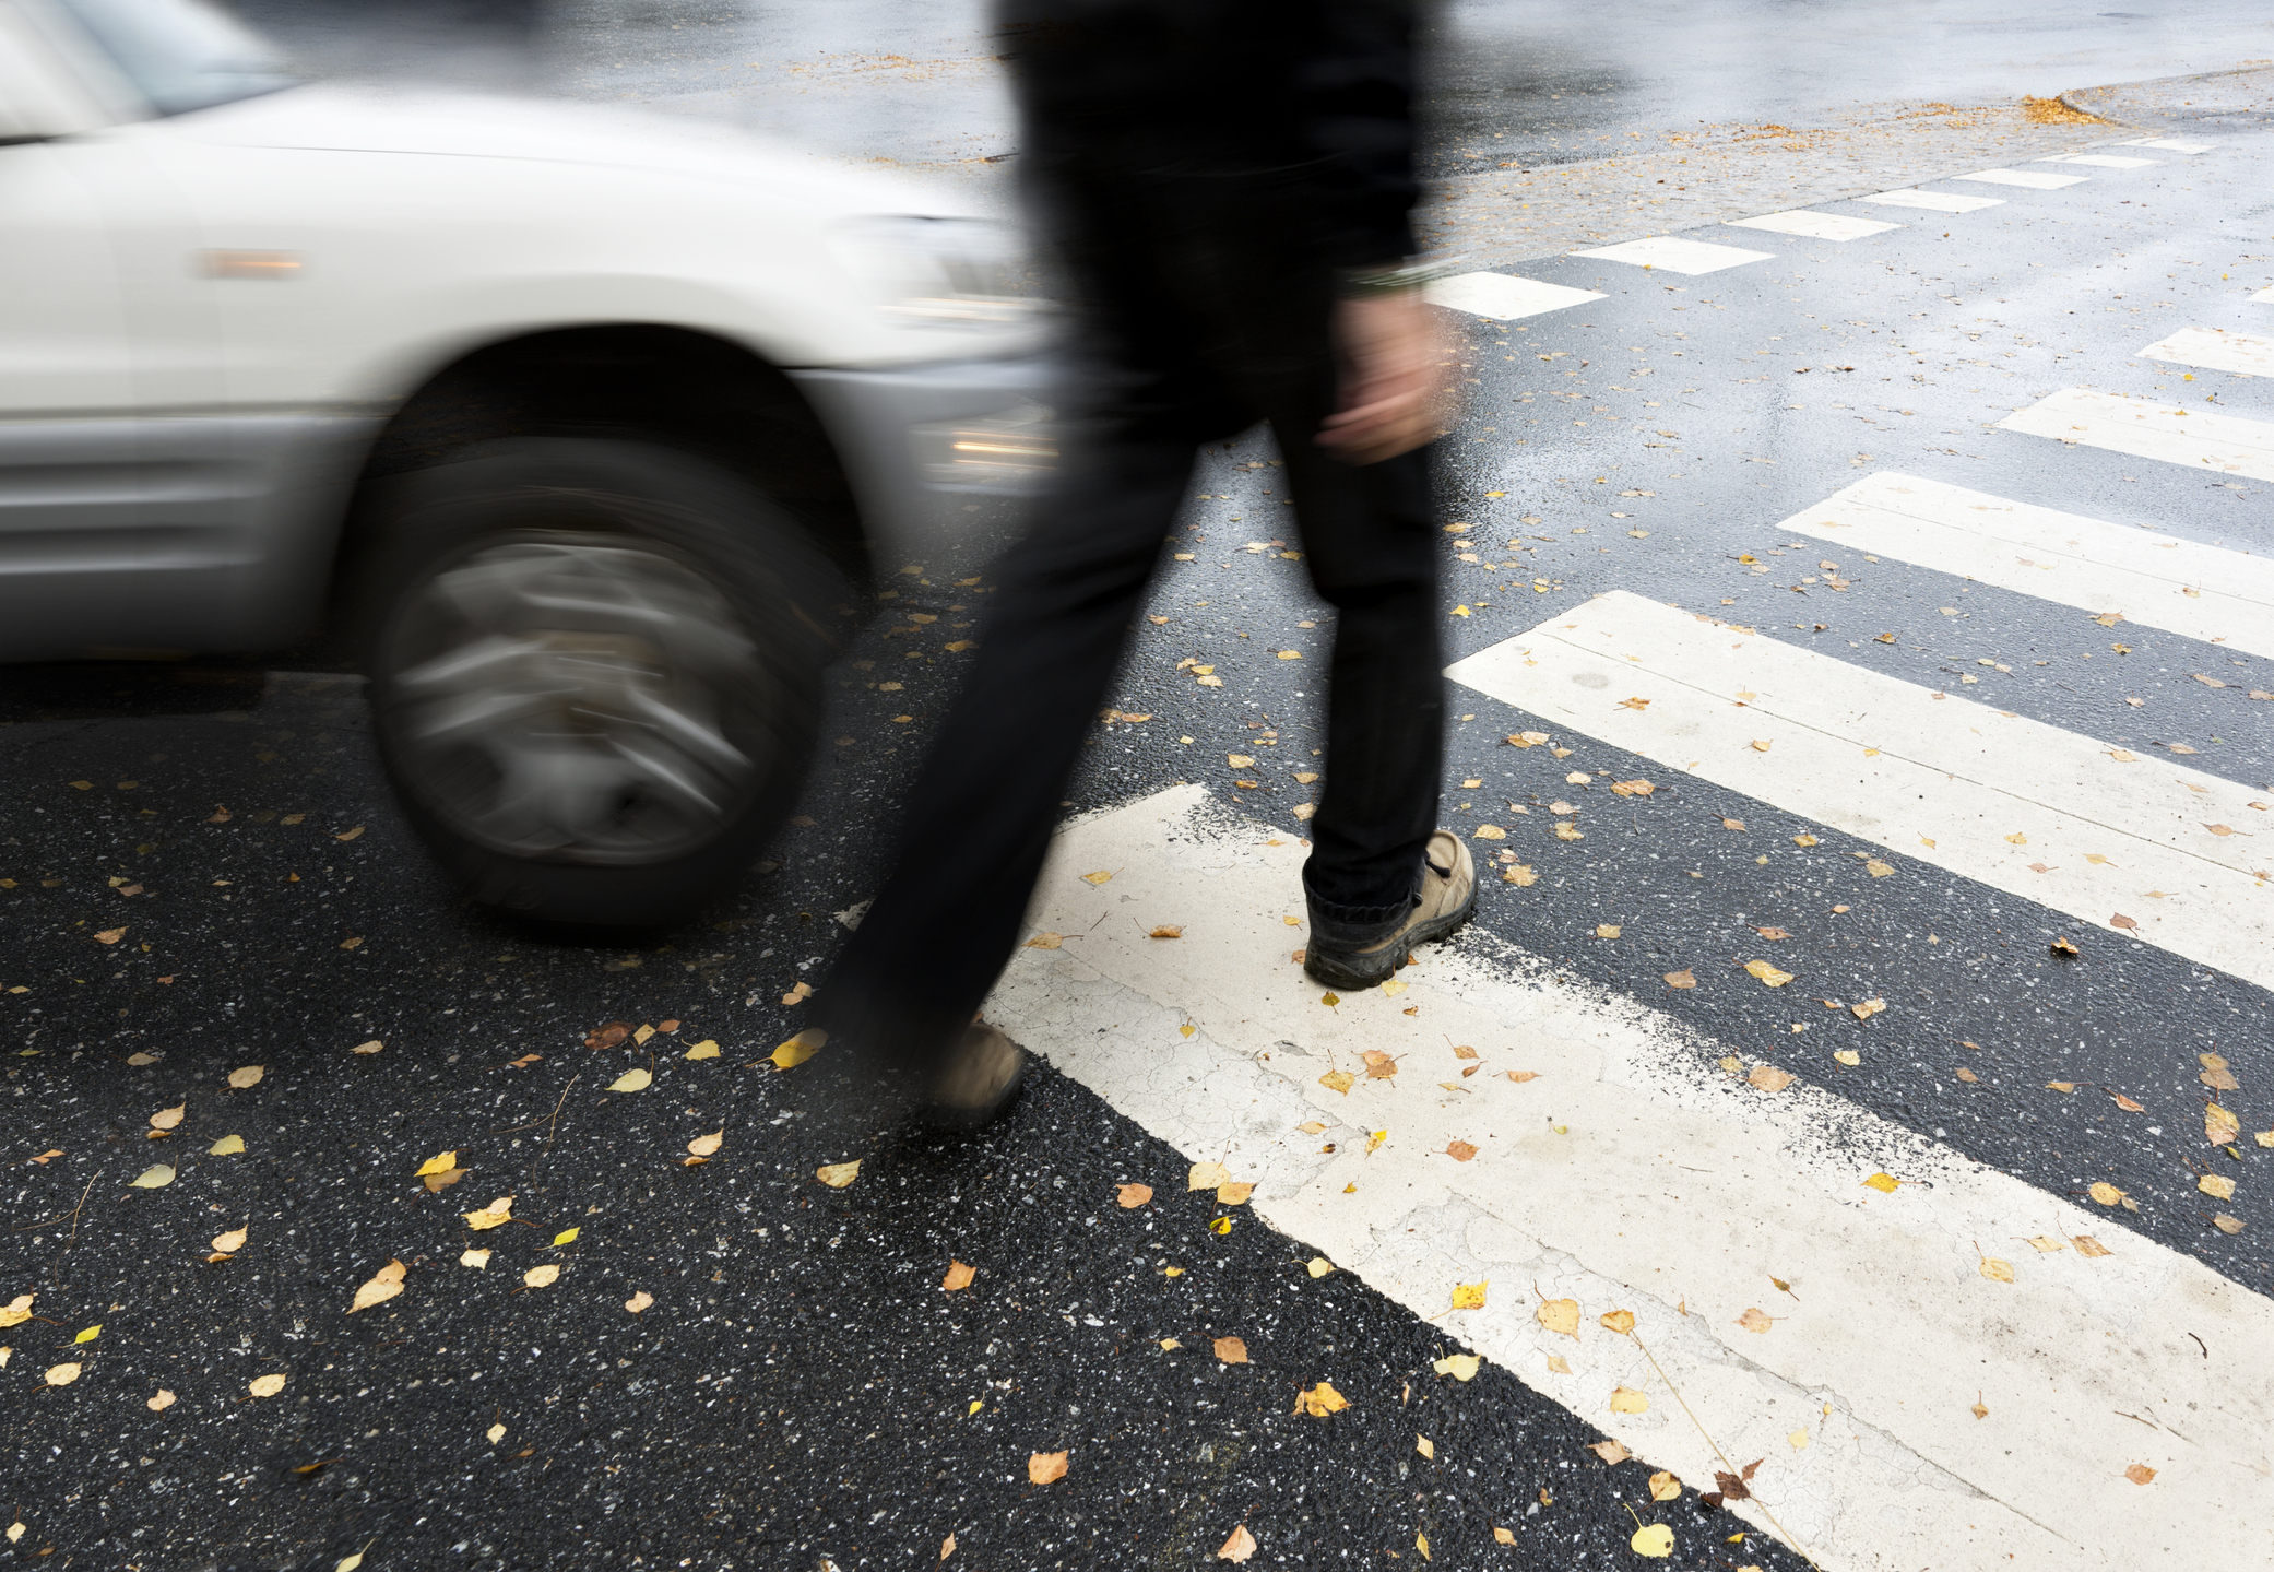
[[[1414,7],[1410,0],[1314,0],[1319,27],[1289,86],[1303,139],[1330,171],[1328,250],[1337,266],[1414,253]]]

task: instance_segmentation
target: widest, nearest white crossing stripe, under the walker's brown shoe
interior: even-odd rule
[[[1551,858],[1558,842],[1542,842]],[[2174,1565],[2176,1547],[2274,1536],[2256,1424],[2274,1413],[2267,1299],[2083,1197],[1962,1160],[1833,1092],[1758,1092],[1669,1017],[1565,987],[1546,960],[1476,930],[1424,951],[1399,996],[1326,1008],[1289,960],[1301,930],[1280,921],[1303,910],[1301,864],[1292,835],[1210,812],[1198,787],[1080,819],[1060,833],[1035,921],[1087,937],[1021,949],[987,1017],[1185,1163],[1253,1183],[1226,1210],[1233,1228],[1294,1235],[1289,1256],[1355,1272],[1442,1329],[1446,1351],[1505,1365],[1690,1490],[1726,1467],[1699,1426],[1737,1463],[1765,1458],[1753,1490],[1826,1572],[2144,1570]],[[1092,887],[1092,869],[1114,876]],[[1155,924],[1185,937],[1144,937]],[[1810,987],[1806,955],[1774,960],[1799,971],[1785,992]],[[1696,969],[1706,987],[1760,990],[1726,962]],[[1783,1058],[1837,1076],[1831,1051],[1869,1062],[1903,1003],[1869,1024],[1842,1012],[1837,1031],[1812,999],[1794,1001],[1808,1019],[1801,1008],[1815,1019]],[[1367,1076],[1369,1049],[1399,1074]],[[1348,1094],[1319,1083],[1330,1072],[1358,1076]],[[1455,1160],[1451,1142],[1476,1158]],[[1865,1188],[1874,1172],[1901,1188]],[[1182,1167],[1128,1176],[1187,1183]],[[1194,1274],[1178,1283],[1207,1281],[1203,1235],[1148,1231],[1148,1210],[1110,1194],[1069,1203]],[[2081,1256],[2078,1235],[2110,1254]],[[1985,1256],[2015,1281],[1985,1276]],[[1310,1292],[1301,1265],[1285,1269]],[[1485,1283],[1485,1308],[1451,1310],[1458,1283]],[[1542,1299],[1578,1301],[1574,1335],[1539,1324]],[[1610,1310],[1633,1313],[1633,1338],[1601,1326]],[[1774,1317],[1769,1331],[1740,1326],[1746,1310]],[[1171,1315],[1132,1331],[1192,1342],[1196,1326]],[[1246,1338],[1255,1347],[1258,1329]],[[1339,1383],[1364,1351],[1271,1358],[1310,1385]],[[1419,1376],[1417,1397],[1428,1381],[1451,1376]],[[1649,1406],[1612,1413],[1617,1388]],[[2133,1463],[2156,1481],[2128,1483]],[[1774,1536],[1753,1501],[1731,1511]],[[1737,1527],[1678,1522],[1683,1565]],[[1526,1522],[1514,1531],[1521,1545]]]

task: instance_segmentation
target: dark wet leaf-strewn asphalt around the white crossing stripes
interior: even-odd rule
[[[641,36],[662,32],[657,20]],[[1726,273],[1544,259],[1521,273],[1601,298],[1505,323],[1449,312],[1453,362],[1474,378],[1442,444],[1446,516],[1471,526],[1446,537],[1446,605],[1467,612],[1446,619],[1449,657],[1530,651],[1535,630],[1626,591],[1710,619],[1694,628],[1758,630],[1746,637],[1842,673],[2140,758],[2169,760],[2178,744],[2206,789],[2274,796],[2274,728],[2251,698],[2274,689],[2263,619],[2229,644],[2138,619],[2110,628],[1990,582],[1972,557],[1937,566],[1783,528],[1856,480],[1901,473],[2263,562],[2265,471],[1997,425],[2069,387],[2274,421],[2265,378],[2140,355],[2183,328],[2265,334],[2274,318],[2249,300],[2274,284],[2265,127],[2229,116],[2206,136],[2213,152],[2074,168],[2085,184],[1999,189],[2003,207],[1972,214],[1828,202],[1906,223],[1844,243],[1694,234],[1771,253]],[[1151,719],[1101,726],[1069,796],[1076,828],[1194,783],[1255,837],[1301,835],[1312,792],[1296,776],[1319,769],[1323,746],[1303,673],[1333,621],[1283,557],[1301,535],[1271,460],[1260,437],[1201,457],[1178,548],[1189,560],[1164,562],[1151,607],[1164,621],[1144,626],[1117,696]],[[1107,1083],[1057,1042],[1092,1031],[1073,1006],[1053,1006],[1053,1062],[1014,1115],[962,1144],[850,1128],[832,1115],[828,1056],[791,1072],[766,1060],[798,1028],[780,999],[819,976],[837,915],[873,890],[891,805],[955,680],[957,657],[939,646],[985,610],[955,582],[982,578],[973,564],[912,566],[901,610],[939,621],[882,619],[848,653],[832,748],[773,867],[703,924],[637,949],[550,944],[455,903],[387,801],[355,678],[221,664],[9,676],[0,1304],[34,1299],[32,1319],[0,1329],[0,1513],[25,1527],[0,1558],[152,1572],[330,1570],[357,1552],[364,1567],[857,1567],[935,1565],[953,1536],[951,1567],[1007,1572],[1214,1565],[1244,1524],[1264,1565],[1567,1567],[1624,1565],[1637,1529],[1665,1524],[1667,1565],[1806,1565],[1751,1508],[1706,1506],[1687,1465],[1678,1495],[1653,1497],[1651,1447],[1694,1449],[1676,1404],[1690,1376],[1644,1383],[1649,1420],[1669,1429],[1637,1433],[1603,1392],[1562,1395],[1462,1317],[1419,1313],[1355,1251],[1333,1249],[1335,1269],[1314,1276],[1321,1244],[1269,1210],[1269,1172],[1248,1203],[1187,1190],[1189,1165],[1226,1149],[1096,1090]],[[1180,660],[1212,664],[1223,687],[1196,687]],[[1678,696],[1662,692],[1667,714]],[[1612,721],[1455,694],[1446,817],[1469,835],[1508,826],[1512,867],[1528,871],[1487,883],[1474,965],[1503,965],[1492,946],[1510,946],[1537,962],[1544,999],[1642,1008],[1685,1033],[1703,1076],[1717,1056],[1771,1065],[1794,1078],[1783,1097],[1821,1094],[2047,1206],[2088,1206],[2119,1263],[2197,1272],[2185,1281],[2247,1290],[2233,1294],[2244,1310],[2263,1304],[2274,1208],[2267,1153],[2247,1135],[2274,1124],[2263,971],[2190,960],[2192,940],[2147,942],[2106,915],[2065,912],[2060,896],[2015,896],[1935,846],[1842,833],[1833,812],[1792,805],[1808,801],[1799,764],[1737,789],[1653,758],[1640,733],[1621,746],[1587,730]],[[1553,744],[1508,746],[1526,730]],[[1253,762],[1228,767],[1233,755]],[[2026,792],[2033,758],[2017,748],[2015,769],[1985,778]],[[1610,796],[1608,783],[1635,778],[1655,789]],[[2058,785],[2044,789],[2058,801]],[[1585,837],[1562,842],[1544,826],[1569,799]],[[2244,803],[2231,828],[2258,824]],[[1487,874],[1499,867],[1492,839],[1471,844]],[[1867,858],[1890,874],[1865,871]],[[2135,912],[2158,921],[2151,901],[2172,899],[2135,892]],[[2249,910],[2235,921],[2265,921]],[[1603,926],[1619,937],[1599,937]],[[1787,937],[1762,940],[1771,926]],[[2053,937],[2078,953],[2056,953]],[[1740,971],[1746,955],[1801,974],[1810,996],[1760,987]],[[1674,987],[1669,971],[1699,985]],[[1419,974],[1444,976],[1435,960]],[[1458,994],[1458,978],[1444,987]],[[1826,1012],[1817,994],[1885,1012]],[[1214,1026],[1189,1003],[1203,1042]],[[657,1033],[587,1046],[609,1021]],[[689,1058],[703,1042],[719,1053]],[[2233,1090],[2204,1081],[2217,1074],[2204,1053]],[[232,1085],[248,1067],[262,1076]],[[614,1090],[630,1069],[653,1083]],[[2199,1135],[2208,1097],[2240,1119],[2231,1153]],[[689,1142],[712,1133],[721,1144],[689,1165]],[[243,1149],[216,1151],[227,1137]],[[416,1169],[441,1153],[464,1178],[428,1190]],[[819,1165],[850,1158],[853,1185],[814,1183]],[[1392,1163],[1394,1144],[1383,1172],[1403,1172]],[[130,1188],[152,1165],[173,1181]],[[2215,1199],[2206,1174],[2233,1178],[2233,1194]],[[1119,1206],[1128,1183],[1153,1199]],[[1521,1194],[1621,1178],[1517,1169],[1510,1183]],[[2138,1210],[2085,1201],[2092,1183]],[[468,1226],[466,1213],[507,1194],[509,1222]],[[1676,1260],[1706,1222],[1665,1210],[1649,1242]],[[1376,1238],[1387,1249],[1401,1228],[1426,1249],[1458,1251],[1462,1228],[1476,1240],[1435,1213],[1378,1224]],[[241,1244],[218,1249],[232,1231]],[[482,1265],[466,1260],[484,1249]],[[389,1263],[402,1265],[400,1292],[350,1310]],[[976,1276],[944,1290],[955,1263]],[[1653,1290],[1628,1281],[1624,1304],[1649,1322]],[[1808,1301],[1808,1281],[1787,1285]],[[1519,1272],[1494,1294],[1533,1299]],[[1585,1304],[1590,1338],[1615,1304]],[[2015,1335],[2067,1340],[2072,1358],[2076,1340],[2113,1335],[2092,1319],[2101,1310],[2060,1313],[2074,1319],[2017,1315]],[[1676,1372],[1674,1345],[1726,1335],[1692,1331],[1687,1301],[1680,1317]],[[2165,1331],[2194,1358],[2183,1329]],[[1239,1338],[1244,1360],[1228,1363],[1219,1338]],[[1435,1367],[1471,1347],[1489,1354],[1474,1379]],[[1899,1356],[1890,1338],[1885,1356],[1865,1351],[1812,1392],[1826,1413],[1853,1408],[1862,1431],[1899,1436],[1849,1390]],[[2142,1358],[2165,1358],[2163,1345]],[[2217,1349],[2233,1390],[2226,1413],[2199,1415],[2206,1429],[2240,1433],[2263,1415],[2254,1358]],[[57,1383],[64,1365],[77,1376]],[[1298,1395],[1321,1381],[1348,1406],[1303,1410]],[[1997,1390],[1985,1401],[1992,1429],[2022,1404]],[[1692,1413],[1708,1431],[1740,1420]],[[2031,1451],[2051,1467],[2051,1429],[2022,1420],[2001,1433],[2008,1458],[2024,1454],[2015,1467],[2028,1474]],[[1640,1456],[1605,1463],[1592,1447],[1610,1436]],[[1760,1476],[1796,1531],[1815,1520],[1769,1481],[1810,1456],[1799,1445],[1767,1454]],[[1858,1456],[1881,1472],[1912,1456],[1885,1445]],[[1032,1483],[1030,1458],[1057,1451],[1064,1479]],[[2156,1501],[2153,1486],[2124,1481],[2119,1456],[2108,1463],[2113,1483],[2085,1488]],[[1985,1508],[1994,1495],[1981,1492]],[[2258,1511],[2217,1486],[2188,1511],[2201,1508]],[[1821,1522],[1840,1554],[1801,1533],[1821,1565],[1876,1565],[1874,1531],[1890,1545],[1937,1531]],[[2085,1536],[2083,1549],[2106,1542]]]

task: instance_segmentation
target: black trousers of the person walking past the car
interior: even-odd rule
[[[1271,423],[1303,566],[1337,610],[1310,901],[1342,921],[1403,912],[1437,821],[1428,453],[1353,466],[1312,441],[1335,407],[1323,271],[1258,266],[1248,243],[1214,239],[1221,225],[1162,223],[1123,246],[1121,218],[1114,248],[1073,248],[1089,316],[1060,480],[989,573],[994,605],[907,805],[898,864],[814,999],[832,1035],[919,1074],[1021,942],[1060,799],[1098,735],[1201,441]],[[1239,689],[1230,673],[1201,703],[1235,705]]]

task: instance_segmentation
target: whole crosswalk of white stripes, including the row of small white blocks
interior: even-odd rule
[[[2194,157],[2213,143],[2115,146]],[[2083,171],[2163,162],[2088,152],[2040,162],[2078,173],[1953,180],[2058,191],[2099,177]],[[1969,214],[2026,198],[1912,187],[1862,200]],[[1726,227],[1853,243],[1903,225],[1803,209]],[[1680,275],[1776,257],[1694,234],[1574,255]],[[1508,321],[1605,296],[1469,273],[1430,298]],[[2274,303],[2274,289],[2254,298]],[[2135,355],[2269,375],[2274,339],[2181,328]],[[2035,450],[2024,462],[2038,469],[2058,448],[2022,439],[2219,485],[2274,480],[2274,423],[2208,400],[2069,387],[1999,428],[2015,437],[2006,453]],[[2258,710],[2274,694],[2235,673],[2242,657],[2274,657],[2263,553],[1897,471],[1774,528],[1821,544],[1815,573],[1794,569],[1810,594],[1853,594],[1878,564],[1949,573],[2099,623],[2119,646],[2108,660],[2138,630],[2185,639],[2163,651],[2185,667],[2172,676],[2192,676],[2185,692],[2204,705],[2251,717],[2222,726],[2274,717]],[[1874,635],[1853,637],[1862,648]],[[1894,630],[1876,639],[1901,644]],[[1476,710],[1508,705],[1510,728],[1521,714],[1551,739],[1742,794],[1758,808],[1737,824],[1776,837],[1781,858],[1965,880],[2026,903],[2017,930],[2083,926],[2274,990],[2263,787],[2199,769],[2192,746],[2144,728],[2094,737],[1999,708],[2001,685],[2028,671],[1997,651],[1953,664],[1906,680],[1719,607],[1612,589],[1458,660],[1449,678]],[[1585,835],[1610,783],[1569,780],[1578,805],[1562,824]],[[1194,1163],[1253,1183],[1253,1213],[1305,1254],[1651,1467],[1706,1479],[1731,1456],[1769,1458],[1758,1501],[1731,1511],[1762,1533],[1776,1533],[1774,1513],[1815,1565],[2176,1565],[2201,1542],[2204,1504],[2231,1542],[2274,1536],[2263,1440],[2199,1422],[2274,1408],[2274,1301],[2094,1222],[2083,1194],[1965,1160],[1649,1003],[1571,985],[1489,933],[1380,990],[1326,994],[1301,971],[1303,855],[1294,833],[1201,787],[1069,824],[1032,921],[1085,942],[1019,951],[991,1019]],[[1162,926],[1180,944],[1148,937]],[[1835,1010],[1810,1042],[1867,1031],[1867,1015]],[[2006,1244],[2019,1260],[2003,1260],[1992,1240],[2028,1249]],[[1464,1285],[1480,1306],[1460,1308]],[[1567,1299],[1576,1331],[1544,1313]],[[2142,1479],[2156,1490],[2128,1483]]]

